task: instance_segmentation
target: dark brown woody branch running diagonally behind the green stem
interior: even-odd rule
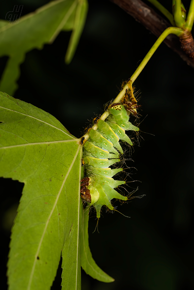
[[[110,0],[117,4],[121,9],[125,10],[130,14],[136,21],[143,24],[149,31],[151,31],[156,37],[159,37],[162,32],[169,26],[172,26],[167,20],[162,16],[158,15],[154,9],[146,5],[141,0]],[[191,36],[192,37],[192,36]],[[191,39],[193,41],[193,39]],[[180,43],[181,41],[181,43]],[[174,35],[170,34],[164,43],[170,47],[174,52],[176,52],[186,63],[194,68],[193,59],[193,42],[189,44],[188,51],[185,49],[182,43],[182,38],[180,39]]]

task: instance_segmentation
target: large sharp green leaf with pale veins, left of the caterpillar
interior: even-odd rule
[[[6,93],[0,93],[0,121],[0,176],[24,182],[11,235],[9,289],[50,289],[62,250],[63,285],[71,281],[71,289],[80,289],[79,139],[52,115]]]

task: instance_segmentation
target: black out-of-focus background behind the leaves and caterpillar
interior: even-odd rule
[[[165,5],[164,1],[161,1]],[[166,1],[167,2],[167,1]],[[47,1],[20,1],[22,16]],[[188,7],[189,2],[184,2]],[[5,18],[15,1],[7,1]],[[169,5],[169,3],[168,3]],[[166,6],[168,7],[168,6]],[[156,38],[109,1],[89,1],[89,12],[72,63],[64,63],[70,32],[61,32],[52,45],[27,53],[21,64],[14,97],[54,115],[77,137],[103,104],[114,99]],[[1,71],[6,57],[0,59]],[[194,70],[161,44],[135,82],[140,90],[140,146],[129,166],[140,182],[136,195],[120,205],[126,218],[103,209],[95,230],[89,221],[90,248],[96,263],[115,282],[96,281],[83,271],[82,290],[189,290],[193,281],[193,132]],[[126,152],[129,158],[129,149]],[[130,179],[129,179],[130,180]],[[5,268],[10,228],[23,184],[1,179],[1,262]],[[94,233],[93,233],[94,232]],[[6,270],[5,270],[6,271]],[[2,289],[6,289],[5,271]],[[52,290],[60,289],[61,269]]]

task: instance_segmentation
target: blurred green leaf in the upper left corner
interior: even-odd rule
[[[83,3],[79,0],[56,0],[21,17],[18,24],[1,20],[0,56],[9,56],[9,60],[2,75],[0,89],[13,94],[17,89],[19,66],[24,61],[25,54],[35,48],[42,49],[45,43],[53,42],[61,30],[73,29],[69,46],[70,62],[84,27],[86,7],[86,0]]]

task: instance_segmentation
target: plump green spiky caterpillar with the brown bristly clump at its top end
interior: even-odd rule
[[[113,198],[126,201],[128,198],[119,194],[114,188],[125,181],[114,180],[112,177],[122,168],[111,169],[110,166],[119,162],[119,154],[123,154],[119,140],[133,145],[125,130],[139,131],[139,128],[129,122],[129,115],[137,114],[137,101],[132,90],[126,90],[120,103],[112,103],[107,110],[106,120],[101,117],[93,119],[93,126],[84,130],[82,137],[85,177],[80,181],[80,196],[88,206],[93,205],[97,218],[101,207],[106,205],[114,210]]]

